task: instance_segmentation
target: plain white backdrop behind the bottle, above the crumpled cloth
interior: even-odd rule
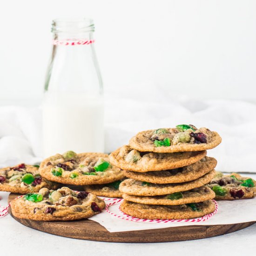
[[[254,0],[4,1],[0,104],[40,102],[51,20],[83,16],[95,21],[106,91],[138,85],[159,94],[254,99],[255,13]]]

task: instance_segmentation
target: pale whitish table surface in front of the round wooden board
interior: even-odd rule
[[[250,175],[256,178],[256,175]],[[7,205],[7,192],[0,192]],[[170,243],[105,243],[54,236],[0,218],[0,256],[230,256],[255,255],[256,224],[224,236]]]

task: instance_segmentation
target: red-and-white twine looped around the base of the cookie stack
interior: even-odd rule
[[[118,201],[115,202],[111,202],[109,204],[106,205],[106,211],[117,217],[120,218],[122,220],[126,220],[126,221],[133,221],[133,222],[155,222],[155,223],[167,223],[167,222],[204,222],[207,221],[210,217],[214,216],[216,214],[216,212],[218,211],[218,204],[215,200],[212,200],[215,203],[215,210],[214,212],[207,214],[205,216],[202,216],[200,218],[195,218],[195,219],[181,219],[181,220],[160,220],[160,219],[156,219],[156,220],[148,220],[148,219],[140,219],[140,218],[135,218],[133,216],[129,216],[127,214],[125,214],[124,212],[121,211],[120,206],[119,206],[119,212],[121,213],[121,215],[117,215],[113,212],[111,212],[108,207],[112,206],[118,202],[121,202],[123,199],[120,199]]]

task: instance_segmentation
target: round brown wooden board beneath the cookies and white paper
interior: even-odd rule
[[[10,194],[8,201],[11,202],[17,196],[19,195]],[[13,216],[10,209],[9,212],[11,216]],[[110,233],[98,222],[87,219],[69,222],[43,222],[19,219],[14,216],[13,218],[27,227],[57,236],[117,243],[160,243],[201,239],[228,234],[247,228],[256,223],[246,222],[229,225],[183,226],[166,229],[149,229]]]

